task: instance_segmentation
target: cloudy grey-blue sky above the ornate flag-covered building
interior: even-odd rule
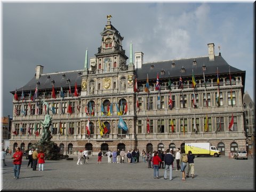
[[[142,51],[144,61],[193,58],[215,54],[246,70],[245,91],[254,99],[253,4],[229,3],[10,3],[2,4],[2,115],[13,115],[10,91],[25,85],[37,65],[44,73],[83,69],[98,52],[100,33],[111,14],[130,56]]]

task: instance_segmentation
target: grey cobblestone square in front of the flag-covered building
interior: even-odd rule
[[[73,156],[70,156],[73,157]],[[182,181],[182,173],[172,171],[173,180],[164,180],[164,170],[159,170],[159,179],[154,179],[153,169],[147,163],[102,163],[97,156],[90,156],[89,164],[77,165],[74,160],[47,161],[44,171],[32,171],[23,157],[20,178],[14,179],[12,159],[6,156],[7,166],[1,167],[2,186],[7,190],[248,190],[254,191],[254,159],[222,157],[196,157],[195,178]],[[126,162],[126,159],[125,159]],[[37,165],[38,170],[38,165]],[[187,167],[186,167],[187,171]],[[169,177],[169,176],[168,176]]]

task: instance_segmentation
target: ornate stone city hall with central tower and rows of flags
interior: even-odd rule
[[[87,58],[86,50],[81,70],[44,74],[39,65],[26,85],[11,91],[10,149],[27,150],[41,139],[46,114],[63,154],[152,152],[185,142],[210,142],[222,155],[246,149],[245,71],[215,54],[213,43],[206,56],[145,63],[132,44],[127,57],[110,17],[100,35],[98,52]]]

